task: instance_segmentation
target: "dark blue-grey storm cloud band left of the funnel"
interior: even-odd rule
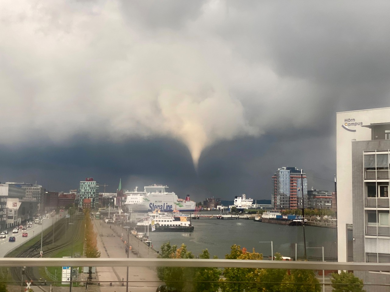
[[[80,180],[93,177],[107,183],[107,191],[116,192],[122,178],[124,188],[169,184],[181,196],[196,182],[188,148],[172,139],[121,143],[81,140],[78,136],[69,146],[2,146],[1,181],[37,181],[49,190],[61,191],[76,189]]]

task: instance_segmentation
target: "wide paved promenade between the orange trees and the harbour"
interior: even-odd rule
[[[111,229],[110,229],[111,226]],[[126,230],[115,225],[106,224],[103,220],[94,220],[94,229],[97,235],[97,248],[101,252],[101,258],[127,258],[125,245],[121,240],[127,239]],[[107,234],[114,234],[115,237],[108,237]],[[103,235],[103,236],[101,236]],[[148,248],[142,241],[129,235],[130,245],[139,253],[140,257],[154,257],[156,252]],[[132,252],[129,258],[136,258]],[[100,281],[102,292],[125,292],[126,282],[122,287],[122,279],[126,281],[126,267],[97,267],[97,279]],[[110,286],[110,281],[112,286]],[[154,292],[161,282],[157,278],[156,270],[147,267],[129,267],[129,289],[130,292]]]

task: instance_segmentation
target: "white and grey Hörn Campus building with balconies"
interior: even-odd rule
[[[336,122],[338,260],[390,262],[390,107],[337,113]],[[390,281],[390,271],[355,274],[364,283]]]

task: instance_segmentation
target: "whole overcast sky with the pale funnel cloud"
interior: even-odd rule
[[[0,2],[0,181],[333,190],[335,113],[390,106],[389,1]]]

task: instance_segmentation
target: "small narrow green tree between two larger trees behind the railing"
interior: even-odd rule
[[[214,257],[216,259],[217,257]],[[199,259],[210,259],[209,251],[203,250]],[[197,268],[195,270],[193,291],[194,292],[216,292],[218,291],[220,270],[215,267]]]

